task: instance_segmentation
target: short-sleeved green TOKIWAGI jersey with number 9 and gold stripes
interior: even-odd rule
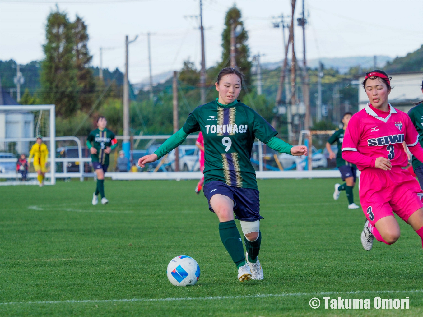
[[[254,139],[267,143],[277,134],[257,112],[238,101],[222,105],[216,100],[195,108],[182,129],[203,133],[205,183],[257,189],[250,161]]]

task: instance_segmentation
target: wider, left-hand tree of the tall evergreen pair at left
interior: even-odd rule
[[[74,35],[66,13],[58,9],[47,18],[45,58],[41,63],[42,98],[56,105],[56,115],[70,116],[78,108],[79,87],[74,61]]]

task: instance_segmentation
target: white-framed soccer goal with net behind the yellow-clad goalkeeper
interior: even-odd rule
[[[32,162],[26,180],[16,168],[22,154],[28,158],[37,135],[49,150],[46,183],[55,184],[55,134],[54,105],[0,106],[0,185],[37,183]]]

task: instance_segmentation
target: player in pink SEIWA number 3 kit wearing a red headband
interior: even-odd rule
[[[367,218],[361,243],[368,251],[374,237],[386,244],[398,240],[400,229],[393,212],[411,225],[423,247],[423,191],[402,169],[407,166],[402,143],[420,161],[423,149],[409,116],[388,103],[391,78],[380,70],[366,74],[363,87],[370,102],[352,116],[342,145],[342,158],[361,171],[360,202]]]

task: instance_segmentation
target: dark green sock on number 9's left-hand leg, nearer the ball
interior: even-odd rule
[[[219,223],[219,234],[223,245],[231,256],[236,267],[245,265],[244,247],[242,246],[242,238],[236,229],[235,220],[224,221]],[[258,252],[257,252],[258,254]]]

